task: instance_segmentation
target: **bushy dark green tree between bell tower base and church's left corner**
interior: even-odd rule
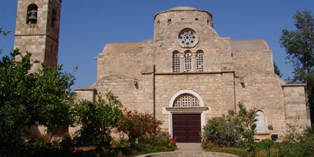
[[[31,114],[31,124],[47,126],[48,133],[59,126],[63,129],[73,124],[70,108],[74,105],[75,93],[70,89],[74,84],[74,76],[57,68],[42,68],[34,74],[31,95],[33,106],[28,112]]]

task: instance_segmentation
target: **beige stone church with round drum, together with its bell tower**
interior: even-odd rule
[[[57,65],[60,10],[61,0],[18,0],[15,47]],[[77,100],[112,91],[128,110],[162,120],[178,142],[200,142],[207,120],[239,103],[257,111],[260,138],[283,135],[295,119],[308,125],[306,84],[286,84],[274,73],[264,40],[220,37],[212,18],[207,10],[172,8],[155,15],[152,40],[107,43],[97,57],[96,82],[75,89]]]

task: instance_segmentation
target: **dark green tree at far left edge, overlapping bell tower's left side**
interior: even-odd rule
[[[0,61],[0,156],[21,154],[24,149],[24,128],[31,117],[27,113],[29,89],[33,75],[27,75],[31,68],[27,53],[21,61],[15,61],[18,50]]]

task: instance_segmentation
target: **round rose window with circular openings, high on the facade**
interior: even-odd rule
[[[192,29],[184,29],[179,33],[179,45],[192,47],[197,43],[197,36]]]

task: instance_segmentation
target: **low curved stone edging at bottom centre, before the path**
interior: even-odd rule
[[[136,157],[239,157],[233,154],[224,154],[218,152],[195,152],[195,151],[172,151],[156,154],[144,154]]]

